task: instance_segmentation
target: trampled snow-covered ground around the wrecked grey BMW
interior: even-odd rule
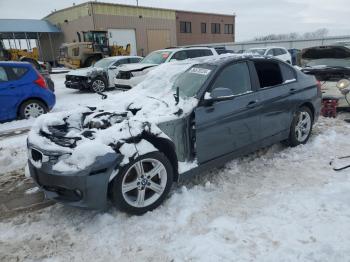
[[[57,111],[100,99],[54,80]],[[329,165],[350,155],[349,134],[321,118],[307,145],[233,160],[139,217],[60,204],[18,215],[0,223],[0,261],[349,261],[350,169]],[[0,174],[25,159],[25,136],[0,141]]]

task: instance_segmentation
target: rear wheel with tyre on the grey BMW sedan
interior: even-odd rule
[[[301,107],[294,114],[288,144],[292,147],[306,144],[312,132],[313,114],[308,107]]]

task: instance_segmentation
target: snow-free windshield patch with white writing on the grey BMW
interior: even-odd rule
[[[178,87],[181,97],[194,97],[214,69],[215,66],[203,64],[191,67],[175,80],[173,90]]]

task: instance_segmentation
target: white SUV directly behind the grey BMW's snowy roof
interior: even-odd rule
[[[117,88],[132,88],[146,78],[146,74],[156,66],[189,58],[203,56],[217,56],[214,48],[209,47],[184,47],[157,50],[148,54],[140,63],[123,65],[119,67],[119,73],[114,79]]]

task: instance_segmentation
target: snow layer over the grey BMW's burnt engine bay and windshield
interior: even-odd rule
[[[28,143],[41,150],[68,154],[56,164],[58,171],[83,169],[110,152],[120,153],[126,164],[136,153],[155,150],[148,141],[137,139],[144,132],[171,140],[158,124],[185,117],[198,104],[194,97],[180,98],[177,104],[173,89],[177,76],[195,63],[159,66],[134,89],[101,100],[98,108],[43,115],[30,131]]]

